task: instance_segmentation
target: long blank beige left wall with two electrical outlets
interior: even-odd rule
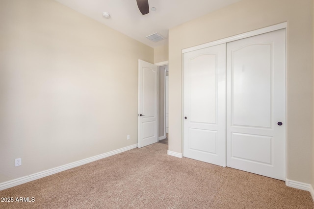
[[[138,59],[154,49],[56,1],[1,0],[0,183],[137,143]]]

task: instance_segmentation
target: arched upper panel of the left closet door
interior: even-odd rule
[[[216,54],[189,62],[190,122],[216,124]]]

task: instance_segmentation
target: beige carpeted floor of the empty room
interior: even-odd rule
[[[167,145],[88,163],[0,191],[1,209],[314,209],[307,191],[285,182],[167,155]]]

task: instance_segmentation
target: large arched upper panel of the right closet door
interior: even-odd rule
[[[232,125],[271,128],[272,44],[231,52]]]

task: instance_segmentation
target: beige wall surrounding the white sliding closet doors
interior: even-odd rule
[[[311,183],[312,0],[242,0],[169,31],[169,150],[182,153],[182,52],[277,23],[288,22],[287,178]]]

